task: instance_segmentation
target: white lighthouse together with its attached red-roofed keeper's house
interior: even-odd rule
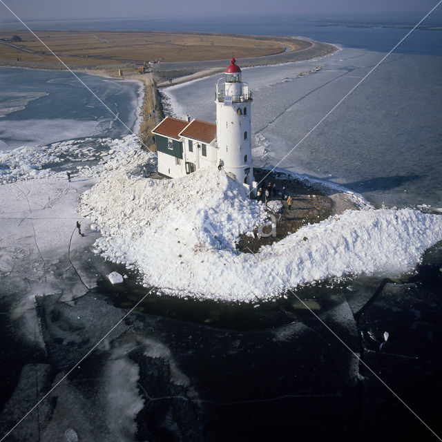
[[[249,85],[241,80],[235,59],[216,84],[216,124],[200,119],[166,117],[155,134],[158,172],[176,178],[220,160],[228,175],[248,191],[256,189],[251,158],[251,102]]]

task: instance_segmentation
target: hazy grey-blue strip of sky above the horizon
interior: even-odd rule
[[[126,18],[152,15],[280,15],[426,12],[439,0],[0,0],[0,21]],[[438,10],[442,10],[439,6]]]

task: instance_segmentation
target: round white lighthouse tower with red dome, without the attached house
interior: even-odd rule
[[[224,80],[224,84],[220,81]],[[224,169],[235,175],[236,181],[252,190],[256,186],[251,159],[251,91],[241,81],[241,69],[231,59],[224,79],[216,84],[216,137],[218,160]]]

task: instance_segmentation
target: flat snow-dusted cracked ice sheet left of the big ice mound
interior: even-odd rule
[[[92,180],[50,179],[0,186],[2,292],[11,296],[15,318],[33,314],[35,295],[65,292],[74,298],[86,292],[68,260],[68,250],[70,246],[71,257],[79,256],[96,239],[95,233],[82,238],[75,231],[76,220],[81,220],[74,213],[78,195],[92,184]],[[86,225],[82,223],[87,231]],[[84,274],[86,267],[78,259],[73,264],[91,284],[92,275]]]

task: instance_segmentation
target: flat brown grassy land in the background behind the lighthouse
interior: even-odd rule
[[[70,67],[96,68],[134,61],[202,61],[278,54],[285,46],[300,48],[294,39],[166,32],[38,31],[39,38]],[[0,31],[0,39],[13,35],[22,41],[0,44],[1,64],[59,66],[59,62],[29,31]],[[4,42],[3,42],[4,43]],[[18,60],[17,60],[18,59]]]

